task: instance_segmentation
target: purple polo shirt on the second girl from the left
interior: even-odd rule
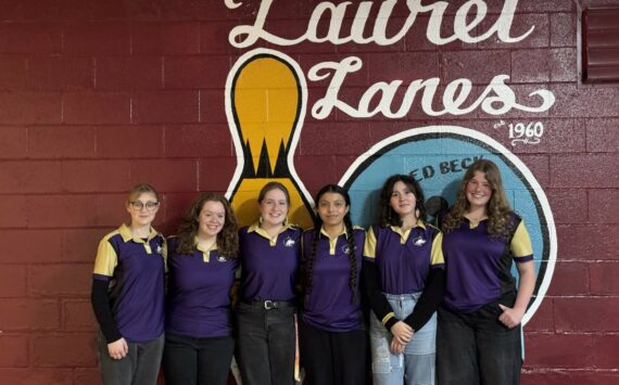
[[[238,259],[225,258],[216,248],[180,255],[176,238],[167,242],[166,331],[195,338],[231,335],[230,290]]]

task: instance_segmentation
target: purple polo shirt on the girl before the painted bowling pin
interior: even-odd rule
[[[241,300],[292,300],[301,259],[301,229],[286,226],[270,239],[257,223],[239,230]]]

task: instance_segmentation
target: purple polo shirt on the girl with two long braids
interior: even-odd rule
[[[324,231],[316,244],[313,264],[312,292],[305,295],[303,321],[328,332],[349,332],[361,326],[359,280],[365,231],[354,229],[355,264],[357,268],[355,300],[349,287],[351,261],[346,233],[331,240]],[[303,233],[303,258],[312,253],[314,230]]]

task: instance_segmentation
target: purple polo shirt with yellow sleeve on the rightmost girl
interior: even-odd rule
[[[516,215],[511,214],[511,220]],[[471,312],[516,290],[511,262],[533,259],[525,222],[516,228],[511,242],[488,235],[488,219],[479,223],[464,219],[443,238],[446,261],[444,305],[457,312]]]

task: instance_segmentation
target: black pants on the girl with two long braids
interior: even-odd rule
[[[301,363],[307,385],[366,383],[367,333],[364,330],[327,332],[299,321]]]

